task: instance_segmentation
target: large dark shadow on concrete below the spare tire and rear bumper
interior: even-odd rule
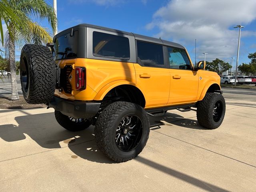
[[[98,163],[115,163],[97,149],[94,140],[94,126],[79,132],[65,130],[55,120],[54,113],[25,115],[15,117],[14,124],[0,125],[0,138],[6,142],[26,139],[28,135],[43,148],[68,147],[76,156]],[[18,146],[17,146],[18,147]]]

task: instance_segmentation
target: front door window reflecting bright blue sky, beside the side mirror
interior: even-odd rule
[[[191,70],[191,64],[185,50],[170,47],[167,49],[171,69]]]

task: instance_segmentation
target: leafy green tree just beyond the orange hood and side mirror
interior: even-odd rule
[[[212,60],[212,62],[206,61],[206,70],[214,71],[218,73],[218,75],[221,75],[222,72],[227,71],[230,68],[232,68],[232,66],[229,63],[224,62],[218,58]]]

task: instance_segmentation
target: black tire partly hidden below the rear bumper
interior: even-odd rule
[[[90,119],[74,119],[62,114],[60,111],[54,111],[57,122],[66,130],[75,132],[82,131],[91,125]],[[75,121],[73,121],[75,120]]]

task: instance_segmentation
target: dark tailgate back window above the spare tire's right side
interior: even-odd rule
[[[74,31],[73,36],[67,33],[56,38],[54,48],[57,53],[56,60],[76,58],[78,50],[78,31]]]

